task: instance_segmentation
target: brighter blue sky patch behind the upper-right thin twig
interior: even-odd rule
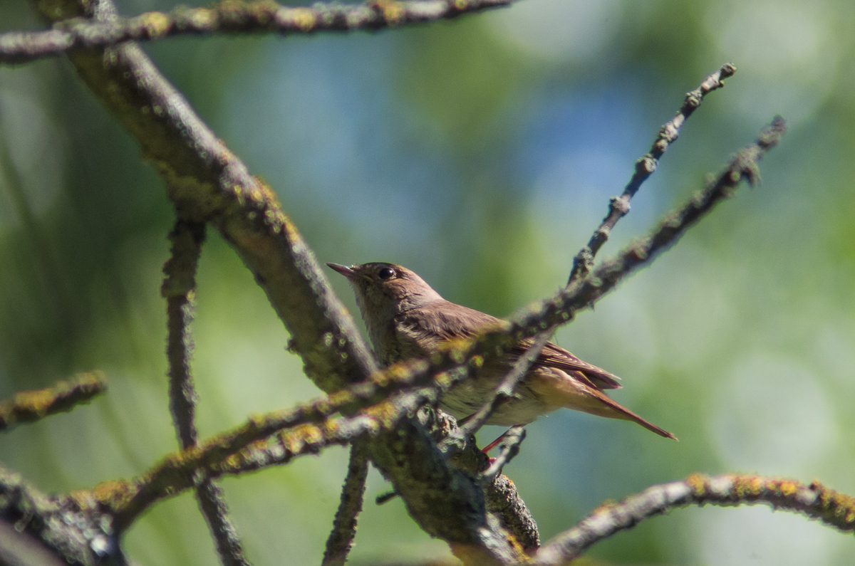
[[[649,150],[657,127],[649,125],[643,109],[644,86],[621,80],[581,91],[556,82],[528,102],[537,111],[516,134],[516,182],[531,192],[534,214],[554,223],[563,241],[593,231],[609,198],[623,191],[635,160]],[[633,201],[633,212],[619,229],[646,227],[663,200],[668,202],[661,188],[652,188],[663,183],[657,175],[647,181],[643,198]]]

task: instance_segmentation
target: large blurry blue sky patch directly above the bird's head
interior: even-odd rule
[[[264,71],[247,77],[255,84],[230,93],[227,127],[286,209],[320,202],[374,238],[430,232],[447,200],[437,187],[455,176],[402,123],[397,43],[380,33],[270,44]]]

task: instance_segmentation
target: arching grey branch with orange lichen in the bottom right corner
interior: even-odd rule
[[[799,481],[759,475],[709,477],[693,474],[684,481],[648,487],[619,504],[604,505],[574,528],[549,541],[531,563],[538,566],[570,563],[599,540],[678,507],[761,503],[775,510],[802,513],[846,533],[855,531],[855,498],[828,489],[817,481],[805,486]]]

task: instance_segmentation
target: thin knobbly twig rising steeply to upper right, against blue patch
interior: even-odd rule
[[[669,145],[674,143],[680,134],[680,128],[689,116],[700,106],[704,97],[711,91],[724,86],[723,80],[731,77],[736,73],[736,68],[731,63],[725,63],[722,68],[708,76],[698,88],[687,92],[686,99],[677,114],[671,120],[665,122],[661,128],[656,140],[648,153],[635,162],[635,172],[630,178],[627,186],[624,187],[620,197],[612,197],[609,203],[609,214],[605,216],[602,224],[594,230],[591,239],[585,247],[579,251],[573,258],[573,269],[570,271],[569,286],[575,280],[587,275],[593,265],[593,258],[597,255],[599,249],[609,239],[611,230],[615,227],[617,221],[622,216],[629,212],[629,201],[636,192],[638,192],[641,184],[645,182],[647,177],[650,177],[656,171],[659,158],[663,156]]]

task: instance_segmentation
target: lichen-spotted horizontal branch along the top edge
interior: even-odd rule
[[[506,6],[513,0],[375,0],[363,4],[315,3],[282,6],[272,0],[224,0],[210,8],[179,7],[115,21],[73,18],[39,32],[0,33],[0,63],[22,63],[59,56],[79,47],[109,47],[124,41],[148,41],[212,33],[294,33],[376,31]]]

